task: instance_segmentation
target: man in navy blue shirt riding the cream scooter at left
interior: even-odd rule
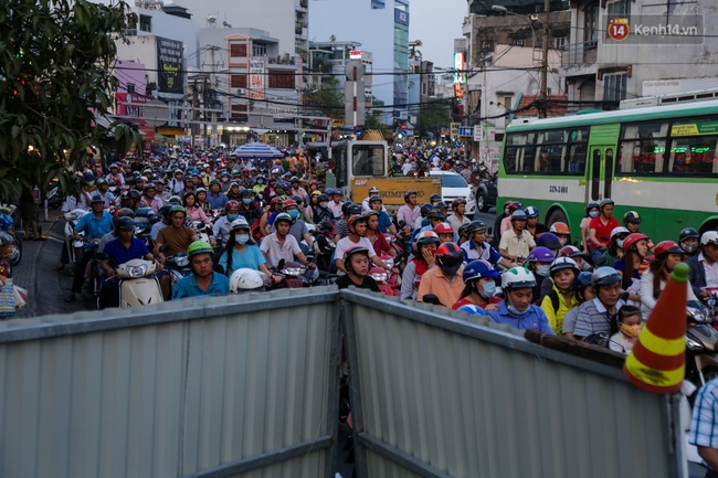
[[[145,243],[135,237],[135,222],[131,217],[120,217],[117,220],[117,238],[109,241],[105,245],[103,254],[104,259],[99,266],[105,275],[109,278],[115,277],[115,269],[118,265],[125,264],[131,259],[155,261]],[[157,264],[157,270],[162,270],[162,265]],[[99,308],[117,307],[119,305],[119,295],[117,293],[118,280],[103,280],[99,290]]]

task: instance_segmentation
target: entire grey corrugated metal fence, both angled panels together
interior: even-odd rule
[[[1,477],[679,477],[674,406],[467,316],[331,288],[0,325]]]

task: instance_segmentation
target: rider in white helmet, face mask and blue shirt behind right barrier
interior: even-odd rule
[[[501,276],[504,300],[498,310],[490,310],[488,316],[498,323],[508,323],[517,329],[539,330],[553,336],[548,318],[540,307],[531,304],[536,278],[524,267],[511,267]]]

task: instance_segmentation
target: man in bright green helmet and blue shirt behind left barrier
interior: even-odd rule
[[[212,269],[212,246],[196,241],[187,248],[192,274],[182,277],[172,290],[172,300],[183,297],[222,296],[230,293],[230,279]]]

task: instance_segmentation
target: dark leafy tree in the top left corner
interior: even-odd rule
[[[131,21],[122,1],[0,2],[0,199],[42,189],[55,176],[63,188],[72,184],[71,167],[105,136],[94,110],[113,104],[113,35]],[[139,144],[136,129],[116,123],[116,140]]]

